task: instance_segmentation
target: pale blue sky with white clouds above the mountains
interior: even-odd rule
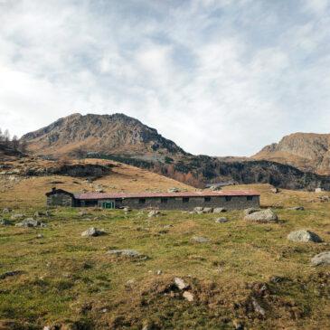
[[[0,127],[124,113],[193,154],[330,133],[330,0],[0,0]]]

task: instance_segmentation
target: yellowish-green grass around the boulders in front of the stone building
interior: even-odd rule
[[[283,222],[276,224],[246,222],[242,212],[223,214],[230,222],[219,224],[217,214],[165,212],[148,219],[146,212],[88,210],[82,217],[79,211],[53,210],[43,219],[45,229],[0,228],[0,274],[24,271],[0,279],[0,319],[26,329],[232,329],[234,320],[257,329],[330,326],[330,269],[310,266],[311,257],[330,248],[286,238],[306,228],[329,242],[327,203],[304,212],[278,209]],[[81,238],[91,226],[108,235]],[[210,241],[195,243],[194,235]],[[116,259],[109,249],[138,250],[148,259]],[[175,292],[171,297],[177,276],[191,285],[193,302]],[[262,284],[267,289],[260,294]],[[251,297],[266,316],[251,308]]]

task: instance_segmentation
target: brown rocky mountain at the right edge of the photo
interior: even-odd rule
[[[265,146],[254,159],[265,159],[330,175],[330,134],[294,133]]]

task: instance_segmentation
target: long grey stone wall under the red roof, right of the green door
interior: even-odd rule
[[[142,203],[145,200],[145,203]],[[163,200],[163,202],[162,202]],[[191,211],[196,206],[203,207],[223,207],[227,210],[243,210],[249,207],[259,208],[259,196],[250,196],[249,199],[247,196],[232,196],[227,198],[224,196],[215,196],[211,197],[210,201],[206,201],[204,197],[190,197],[188,200],[183,197],[174,197],[165,199],[149,197],[145,199],[140,198],[127,198],[123,199],[121,203],[115,201],[116,208],[128,206],[132,209],[145,209],[145,208],[155,208],[159,210],[185,210]],[[108,200],[113,201],[113,200]],[[99,206],[102,202],[99,201]]]

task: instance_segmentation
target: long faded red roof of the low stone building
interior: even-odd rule
[[[79,200],[99,200],[118,198],[166,198],[166,197],[216,197],[216,196],[259,196],[252,190],[227,190],[223,192],[180,192],[180,193],[75,193]]]

